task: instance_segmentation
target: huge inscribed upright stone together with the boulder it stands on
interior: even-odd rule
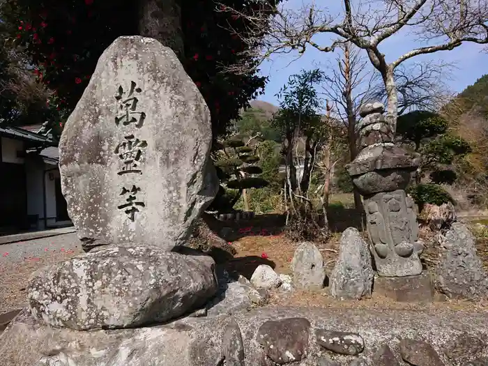
[[[63,130],[63,194],[88,254],[31,277],[31,315],[90,330],[169,321],[205,305],[215,262],[171,251],[215,197],[211,121],[174,52],[120,37]],[[195,254],[195,255],[194,255]]]

